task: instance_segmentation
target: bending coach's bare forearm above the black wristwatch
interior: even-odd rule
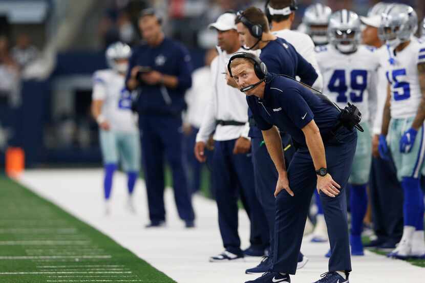
[[[316,170],[326,168],[325,146],[314,120],[311,120],[311,122],[308,123],[302,130],[306,138],[308,151],[310,152],[311,159],[313,160],[314,168]]]

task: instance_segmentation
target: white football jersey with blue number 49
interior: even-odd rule
[[[376,108],[376,70],[379,56],[376,48],[360,45],[351,54],[339,52],[333,45],[317,46],[316,58],[323,75],[323,93],[344,108],[355,104],[362,113],[362,121],[371,117]]]

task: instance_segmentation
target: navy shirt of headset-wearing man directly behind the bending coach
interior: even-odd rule
[[[292,78],[299,76],[307,85],[313,85],[317,79],[317,73],[313,66],[304,59],[295,48],[283,38],[271,40],[261,49],[260,59],[266,64],[269,73],[287,75]],[[251,113],[248,111],[251,118]],[[261,138],[263,135],[257,127],[249,129],[250,137]]]

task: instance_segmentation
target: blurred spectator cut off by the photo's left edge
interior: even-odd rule
[[[19,103],[19,71],[9,53],[9,40],[0,36],[0,104]]]

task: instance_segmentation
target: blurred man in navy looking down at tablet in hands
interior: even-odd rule
[[[144,42],[134,48],[126,86],[139,91],[137,111],[151,223],[162,226],[164,209],[164,157],[173,171],[174,197],[186,227],[194,226],[194,211],[187,188],[182,155],[181,112],[184,94],[192,86],[190,56],[180,43],[164,37],[161,18],[143,10],[139,27]]]

